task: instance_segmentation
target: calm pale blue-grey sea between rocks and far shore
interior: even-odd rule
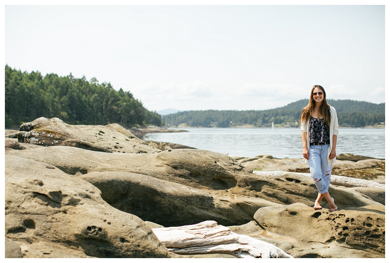
[[[151,133],[146,141],[173,142],[229,156],[302,158],[298,128],[182,128],[189,132]],[[336,154],[385,158],[385,129],[339,128]]]

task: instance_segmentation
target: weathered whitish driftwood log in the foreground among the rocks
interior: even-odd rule
[[[273,244],[238,235],[215,221],[152,228],[152,231],[168,251],[179,255],[219,253],[237,258],[292,258]]]

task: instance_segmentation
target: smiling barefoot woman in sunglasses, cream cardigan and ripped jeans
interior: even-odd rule
[[[309,162],[310,173],[318,189],[314,209],[321,209],[323,197],[331,211],[337,210],[328,189],[331,182],[332,163],[336,161],[338,120],[336,110],[326,102],[326,93],[320,85],[314,85],[309,104],[299,117],[302,132],[303,157]],[[309,147],[309,148],[308,148]]]

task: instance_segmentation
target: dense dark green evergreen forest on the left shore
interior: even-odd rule
[[[39,117],[58,117],[69,124],[119,123],[161,125],[161,116],[148,111],[128,91],[116,91],[110,83],[86,81],[72,74],[59,77],[21,72],[5,65],[5,127]]]

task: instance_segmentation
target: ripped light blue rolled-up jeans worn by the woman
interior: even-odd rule
[[[331,183],[332,164],[328,166],[328,149],[330,145],[310,145],[309,168],[315,186],[320,194],[328,192]]]

